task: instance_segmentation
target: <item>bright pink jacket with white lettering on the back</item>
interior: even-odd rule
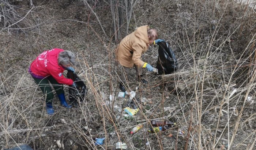
[[[54,48],[40,54],[30,65],[31,75],[42,77],[51,75],[58,83],[72,85],[73,80],[63,76],[65,68],[58,64],[59,53],[62,51],[64,50]]]

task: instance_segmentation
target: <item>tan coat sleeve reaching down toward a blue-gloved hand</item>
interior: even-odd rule
[[[132,54],[133,64],[135,64],[136,66],[142,67],[145,62],[140,60],[140,57],[143,50],[147,49],[147,45],[136,42],[136,43],[133,43],[132,49],[133,49],[133,54]]]

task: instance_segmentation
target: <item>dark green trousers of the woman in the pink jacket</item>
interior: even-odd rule
[[[58,83],[52,76],[45,77],[44,79],[37,79],[37,78],[33,78],[33,79],[35,80],[35,83],[41,88],[44,95],[46,95],[46,100],[45,100],[46,103],[52,102],[52,99],[54,96],[50,83],[52,84],[57,95],[64,93],[63,85]]]

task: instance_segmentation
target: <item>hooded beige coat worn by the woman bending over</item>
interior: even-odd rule
[[[133,65],[142,67],[145,62],[140,60],[142,53],[148,49],[148,26],[139,27],[136,31],[124,37],[116,49],[117,61],[125,67]]]

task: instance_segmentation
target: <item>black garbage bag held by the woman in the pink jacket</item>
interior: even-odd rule
[[[72,71],[68,71],[67,78],[72,79],[75,82],[76,88],[69,86],[69,101],[73,106],[78,106],[78,100],[83,102],[87,95],[87,87],[84,82]]]

